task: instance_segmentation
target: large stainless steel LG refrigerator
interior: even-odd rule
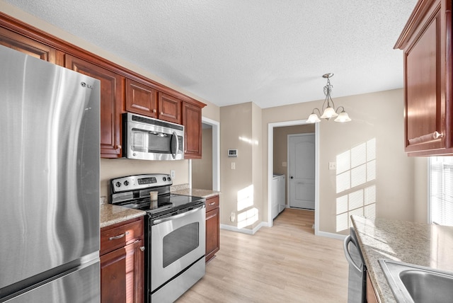
[[[100,82],[0,45],[0,302],[99,302]]]

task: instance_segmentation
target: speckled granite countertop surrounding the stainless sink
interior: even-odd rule
[[[382,303],[396,302],[378,260],[453,271],[453,227],[352,215],[369,278]]]

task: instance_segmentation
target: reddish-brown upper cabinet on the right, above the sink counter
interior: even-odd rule
[[[452,1],[420,0],[395,48],[404,61],[404,147],[452,154]]]

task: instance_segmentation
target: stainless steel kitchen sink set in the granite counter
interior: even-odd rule
[[[453,273],[388,259],[379,264],[397,302],[452,302]]]

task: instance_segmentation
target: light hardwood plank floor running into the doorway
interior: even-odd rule
[[[314,212],[286,209],[256,234],[220,231],[220,251],[185,302],[347,302],[343,242],[314,236]]]

